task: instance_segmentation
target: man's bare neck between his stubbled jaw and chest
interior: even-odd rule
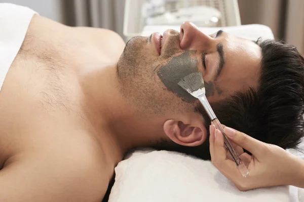
[[[163,136],[162,120],[147,120],[122,96],[116,65],[95,69],[84,80],[90,122],[102,149],[115,164],[128,150],[151,146]]]

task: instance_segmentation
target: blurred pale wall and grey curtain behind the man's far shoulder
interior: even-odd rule
[[[0,0],[69,26],[102,27],[123,36],[125,0]]]

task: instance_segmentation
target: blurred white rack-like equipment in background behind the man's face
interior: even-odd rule
[[[179,26],[191,21],[198,27],[241,25],[237,0],[126,0],[124,35],[140,35],[145,26]]]

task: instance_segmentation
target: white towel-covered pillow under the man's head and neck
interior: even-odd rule
[[[291,186],[241,192],[210,161],[173,151],[137,150],[115,172],[110,202],[298,201]]]

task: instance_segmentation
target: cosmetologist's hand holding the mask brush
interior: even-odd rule
[[[249,174],[247,177],[241,175],[225,149],[222,133],[212,125],[209,138],[211,161],[239,190],[246,191],[278,185],[294,185],[304,188],[303,160],[289,154],[277,145],[261,142],[232,128],[224,127],[224,133],[235,144]],[[248,150],[252,155],[244,153],[242,148]]]

